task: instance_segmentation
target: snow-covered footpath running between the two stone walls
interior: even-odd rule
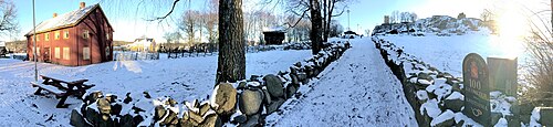
[[[352,49],[310,85],[275,126],[417,126],[400,82],[368,38],[352,40]]]

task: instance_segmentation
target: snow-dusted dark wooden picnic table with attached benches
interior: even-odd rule
[[[42,91],[46,91],[55,95],[56,98],[61,98],[58,103],[58,108],[65,108],[65,100],[69,96],[73,95],[81,98],[86,89],[94,87],[94,85],[84,84],[88,80],[65,77],[62,75],[40,75],[43,80],[42,83],[31,82],[33,87],[39,87],[34,95],[42,95]]]

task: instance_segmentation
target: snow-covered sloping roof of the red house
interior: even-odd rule
[[[88,13],[98,8],[100,4],[88,6],[82,9],[77,9],[55,18],[42,21],[36,25],[36,33],[53,31],[62,28],[74,27],[81,22]],[[33,30],[29,31],[25,35],[33,34]]]

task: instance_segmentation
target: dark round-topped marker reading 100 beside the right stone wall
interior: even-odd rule
[[[465,109],[462,113],[484,127],[490,125],[490,86],[488,65],[476,53],[470,53],[462,61],[465,86]]]

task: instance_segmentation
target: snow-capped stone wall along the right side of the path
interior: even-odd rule
[[[472,126],[472,119],[462,115],[465,107],[461,77],[441,72],[430,64],[405,53],[394,43],[373,38],[384,62],[401,81],[405,96],[416,113],[419,126]],[[553,108],[536,107],[517,100],[501,92],[490,93],[491,124],[497,126],[520,127],[553,126]]]

